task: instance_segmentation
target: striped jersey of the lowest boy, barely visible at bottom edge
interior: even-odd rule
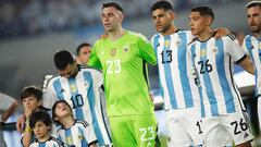
[[[63,147],[63,145],[58,139],[50,137],[46,142],[39,142],[36,139],[29,147]]]

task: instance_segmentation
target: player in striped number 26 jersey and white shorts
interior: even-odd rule
[[[235,62],[253,74],[253,66],[234,36],[213,38],[213,21],[209,7],[194,8],[189,15],[191,34],[197,38],[189,45],[188,56],[200,83],[203,145],[226,146],[234,140],[237,147],[249,147],[252,135],[232,70]]]

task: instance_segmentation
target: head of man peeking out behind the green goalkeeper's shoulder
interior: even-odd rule
[[[88,42],[80,44],[76,49],[76,60],[78,64],[86,65],[89,61],[89,56],[91,52],[91,45]]]

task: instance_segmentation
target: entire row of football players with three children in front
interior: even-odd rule
[[[60,146],[60,140],[70,147],[160,146],[146,75],[150,63],[159,68],[170,147],[221,147],[233,143],[238,147],[251,146],[253,137],[233,78],[233,66],[237,63],[256,75],[259,97],[261,1],[247,3],[246,10],[252,35],[240,47],[227,29],[211,28],[214,13],[209,7],[191,9],[190,30],[182,30],[174,25],[172,4],[157,1],[151,14],[158,33],[150,42],[140,34],[123,29],[121,5],[103,3],[105,35],[96,41],[88,61],[82,61],[102,74],[78,65],[66,50],[57,52],[53,60],[58,75],[46,82],[44,95],[36,95],[41,91],[34,87],[22,93],[26,94],[21,96],[25,112],[16,127],[23,131],[23,145]],[[30,101],[35,102],[34,108]],[[52,131],[59,140],[48,133],[51,121],[42,108],[51,110],[52,120],[62,125]]]

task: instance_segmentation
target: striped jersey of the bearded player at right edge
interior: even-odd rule
[[[247,35],[243,47],[249,52],[254,65],[256,96],[261,96],[261,39],[252,35]]]

